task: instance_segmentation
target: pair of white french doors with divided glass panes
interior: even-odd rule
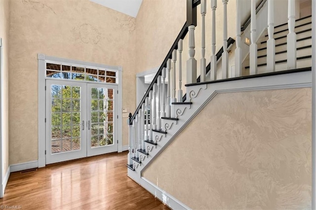
[[[118,150],[116,85],[46,80],[46,164]]]

